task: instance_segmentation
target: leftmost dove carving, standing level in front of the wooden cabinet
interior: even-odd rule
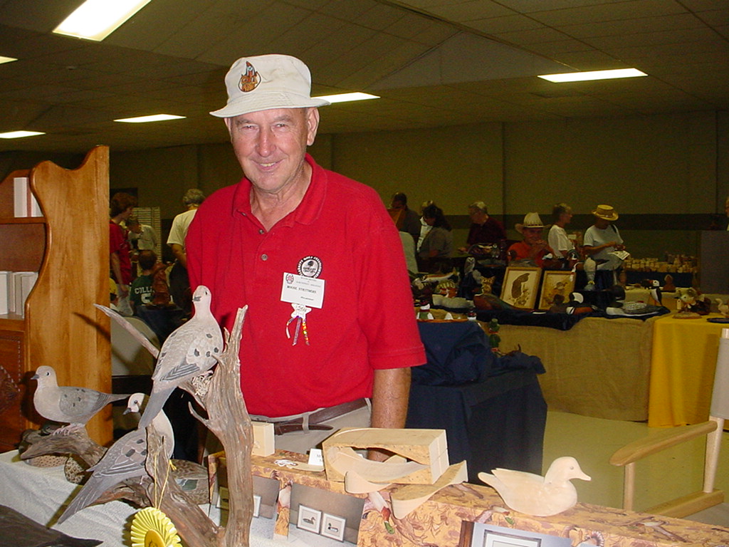
[[[48,365],[38,367],[32,379],[38,381],[33,395],[33,405],[38,414],[54,422],[68,423],[55,430],[54,435],[84,427],[104,406],[129,397],[129,394],[109,395],[86,387],[59,387],[55,371]]]

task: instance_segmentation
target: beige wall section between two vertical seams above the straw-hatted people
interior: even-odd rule
[[[609,203],[622,213],[701,213],[714,204],[712,113],[507,124],[509,212],[575,212]]]

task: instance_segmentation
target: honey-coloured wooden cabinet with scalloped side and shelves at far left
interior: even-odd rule
[[[13,179],[27,176],[42,217],[14,216]],[[25,317],[0,315],[0,451],[43,419],[31,380],[52,366],[58,384],[110,392],[109,148],[95,147],[72,171],[44,161],[0,182],[0,271],[37,271]],[[94,441],[112,440],[111,409],[88,424]]]

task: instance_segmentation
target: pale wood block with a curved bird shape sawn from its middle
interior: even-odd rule
[[[353,471],[376,484],[433,484],[448,469],[444,430],[344,428],[322,443],[330,481]],[[354,449],[385,449],[404,458],[373,462]]]

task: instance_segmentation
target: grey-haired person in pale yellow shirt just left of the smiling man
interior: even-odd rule
[[[167,238],[167,244],[175,256],[175,263],[172,265],[169,276],[170,295],[187,317],[192,314],[192,290],[190,290],[190,279],[187,275],[187,252],[185,252],[184,240],[187,237],[190,223],[203,201],[205,201],[205,194],[198,188],[190,188],[184,193],[182,204],[185,206],[185,212],[174,217],[170,235]]]

